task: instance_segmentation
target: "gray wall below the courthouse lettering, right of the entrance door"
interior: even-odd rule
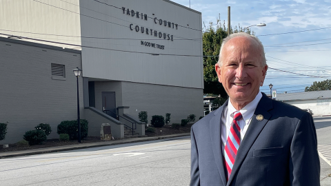
[[[123,106],[130,106],[129,114],[138,116],[148,112],[148,123],[153,115],[171,114],[171,123],[181,123],[188,114],[203,116],[203,89],[122,82]]]

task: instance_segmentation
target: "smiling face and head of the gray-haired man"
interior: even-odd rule
[[[223,46],[222,59],[221,66],[215,65],[219,82],[232,105],[247,105],[257,96],[268,68],[261,65],[261,51],[256,41],[245,37],[230,39]]]

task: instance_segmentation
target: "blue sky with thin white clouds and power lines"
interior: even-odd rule
[[[232,28],[266,24],[250,27],[269,66],[261,92],[270,94],[270,83],[277,94],[303,92],[314,81],[331,79],[331,0],[172,1],[201,12],[205,25],[219,17],[228,25],[228,6]]]

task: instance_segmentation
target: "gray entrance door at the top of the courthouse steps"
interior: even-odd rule
[[[115,92],[102,92],[102,109],[103,112],[116,118],[116,99]]]

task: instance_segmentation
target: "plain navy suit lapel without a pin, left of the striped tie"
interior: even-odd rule
[[[225,169],[223,163],[223,153],[221,151],[221,117],[224,107],[228,105],[226,101],[219,109],[214,112],[214,116],[210,119],[210,138],[212,140],[212,151],[214,153],[214,159],[216,161],[219,174],[223,181],[223,185],[226,185]]]

